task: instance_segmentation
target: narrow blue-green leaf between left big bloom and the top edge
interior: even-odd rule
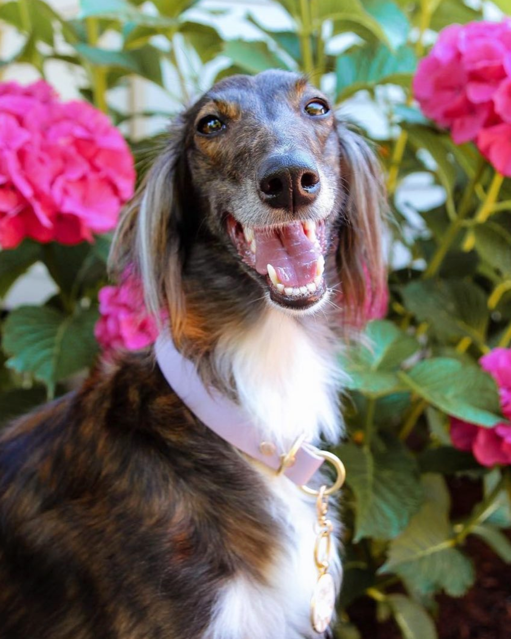
[[[127,73],[136,73],[155,84],[163,86],[160,50],[145,45],[140,49],[114,51],[98,49],[84,43],[75,44],[75,49],[82,58],[91,65],[118,68]]]

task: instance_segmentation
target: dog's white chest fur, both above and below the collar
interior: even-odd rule
[[[292,317],[269,309],[264,321],[243,335],[225,337],[217,364],[233,375],[240,401],[261,429],[261,440],[287,450],[301,433],[317,442],[321,433],[337,441],[339,371],[328,338],[309,333]],[[239,576],[218,600],[208,639],[303,639],[317,636],[310,625],[310,599],[317,580],[314,564],[316,505],[286,477],[255,463],[271,493],[268,509],[286,530],[282,548],[261,585]],[[330,570],[340,582],[333,552]]]

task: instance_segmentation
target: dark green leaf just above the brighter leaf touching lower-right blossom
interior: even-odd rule
[[[441,341],[470,337],[483,344],[489,321],[486,295],[473,282],[415,281],[402,289],[404,305],[431,325]]]

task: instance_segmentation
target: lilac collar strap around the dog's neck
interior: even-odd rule
[[[172,390],[203,424],[226,442],[261,461],[265,466],[286,475],[298,486],[309,482],[324,461],[320,451],[303,442],[293,451],[289,465],[282,466],[287,451],[279,454],[271,442],[263,442],[257,427],[243,408],[213,388],[202,383],[193,362],[183,357],[169,334],[162,333],[155,344],[156,361]],[[294,461],[293,458],[294,457]]]

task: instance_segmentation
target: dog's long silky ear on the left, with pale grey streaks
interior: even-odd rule
[[[177,332],[184,315],[180,173],[185,164],[185,128],[184,116],[171,125],[164,152],[121,216],[109,258],[113,273],[122,275],[130,268],[141,278],[149,312],[158,319],[162,309],[168,309]]]

